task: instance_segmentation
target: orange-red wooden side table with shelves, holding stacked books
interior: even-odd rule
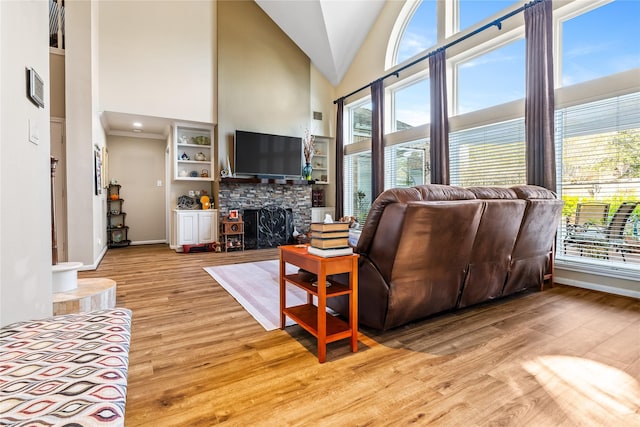
[[[318,361],[324,363],[327,343],[350,338],[351,351],[358,351],[358,258],[359,255],[323,258],[311,255],[306,246],[280,246],[280,329],[286,317],[291,318],[318,340]],[[313,286],[299,274],[285,275],[286,264],[292,264],[316,274],[317,283],[326,283],[327,276],[349,274],[349,286],[329,281],[331,286]],[[287,307],[287,283],[307,292],[307,303]],[[349,319],[344,321],[327,314],[327,298],[349,296]],[[317,297],[317,305],[313,297]]]

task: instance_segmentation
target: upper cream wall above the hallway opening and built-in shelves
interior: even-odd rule
[[[215,123],[216,2],[98,8],[101,110]]]

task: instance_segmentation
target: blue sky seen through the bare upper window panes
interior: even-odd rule
[[[520,6],[514,0],[461,0],[460,28],[467,29],[501,11],[508,13]],[[640,67],[639,25],[640,0],[615,0],[565,21],[561,29],[562,53],[555,59],[562,61],[562,75],[558,79],[561,85]],[[398,62],[429,52],[437,43],[436,35],[436,1],[425,0],[401,38]],[[461,64],[457,114],[523,98],[524,55],[521,40]],[[410,91],[399,94],[402,112],[398,112],[398,119],[413,126],[422,124],[418,122],[424,121],[425,107],[416,101],[414,108],[412,100],[428,99],[424,87],[414,85],[419,94]],[[419,113],[412,114],[411,110]]]

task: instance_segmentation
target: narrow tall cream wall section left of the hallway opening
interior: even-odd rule
[[[105,194],[95,194],[94,147],[105,135],[97,111],[96,6],[66,3],[68,258],[95,267],[106,248]]]

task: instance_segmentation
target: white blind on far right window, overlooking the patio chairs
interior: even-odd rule
[[[640,202],[640,93],[558,110],[556,145],[558,257],[640,271],[640,208],[631,210]]]

